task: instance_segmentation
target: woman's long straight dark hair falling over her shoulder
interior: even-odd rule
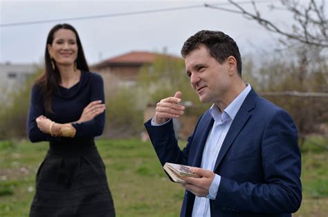
[[[46,63],[45,72],[35,81],[35,84],[39,87],[44,96],[45,110],[46,112],[51,113],[53,113],[53,109],[51,107],[52,94],[57,89],[62,79],[60,77],[60,72],[58,71],[58,68],[55,67],[55,69],[53,69],[51,66],[51,57],[48,52],[47,45],[53,44],[53,35],[55,34],[55,32],[61,29],[72,30],[75,33],[76,43],[78,44],[78,58],[75,61],[77,68],[81,71],[89,72],[89,66],[88,63],[86,63],[78,32],[75,30],[75,28],[73,28],[72,25],[69,25],[67,23],[55,25],[48,33],[48,37],[46,39],[46,52],[44,53],[44,61]]]

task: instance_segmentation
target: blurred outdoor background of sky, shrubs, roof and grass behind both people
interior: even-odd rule
[[[104,79],[107,122],[98,138],[117,216],[179,216],[183,187],[166,177],[143,123],[177,90],[183,147],[199,116],[180,50],[199,30],[221,30],[242,54],[244,81],[293,117],[303,196],[293,216],[328,211],[328,7],[325,1],[0,1],[0,216],[28,216],[47,143],[30,143],[30,88],[44,72],[48,31],[70,23]],[[256,130],[256,129],[255,129]],[[162,195],[163,194],[163,195]],[[165,198],[165,202],[163,202]]]

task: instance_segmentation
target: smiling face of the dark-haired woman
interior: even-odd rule
[[[58,66],[74,65],[78,58],[78,43],[72,30],[60,29],[53,34],[53,43],[48,46],[48,52]]]

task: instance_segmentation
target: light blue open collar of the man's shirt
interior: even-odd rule
[[[210,114],[214,118],[215,122],[224,122],[228,118],[232,120],[235,118],[238,110],[242,107],[242,103],[244,103],[246,96],[250,92],[252,87],[250,87],[249,83],[246,83],[246,88],[226,107],[223,113],[219,110],[217,105],[213,104],[210,107]]]

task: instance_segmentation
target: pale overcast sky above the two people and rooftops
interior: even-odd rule
[[[242,1],[242,0],[237,0]],[[245,1],[243,1],[245,2]],[[4,1],[0,0],[0,24],[124,14],[147,10],[199,6],[185,10],[104,17],[98,19],[54,21],[32,25],[0,27],[0,63],[41,63],[48,31],[57,23],[70,23],[80,35],[90,65],[132,50],[167,52],[180,56],[183,42],[199,30],[221,30],[233,37],[242,54],[270,50],[277,35],[239,14],[201,7],[203,3],[235,9],[221,1]],[[279,1],[271,1],[279,3]],[[269,3],[259,8],[279,25],[290,21],[282,10],[270,12]],[[250,7],[243,4],[244,7]]]

